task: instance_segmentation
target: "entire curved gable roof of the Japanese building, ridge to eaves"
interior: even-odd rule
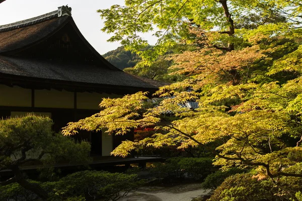
[[[73,19],[68,15],[61,16],[60,11],[59,8],[35,18],[0,26],[0,83],[19,84],[22,87],[29,86],[29,83],[49,83],[50,87],[56,85],[57,88],[60,83],[62,88],[118,88],[123,89],[125,93],[138,90],[155,91],[159,86],[165,85],[132,76],[113,66],[89,44]],[[93,55],[89,57],[93,62],[77,62],[77,56],[74,55],[71,55],[70,63],[31,56],[31,53],[42,50],[46,50],[42,54],[48,55],[48,46],[45,44],[57,39],[66,30],[73,37],[75,44],[80,44],[81,40],[81,46],[70,46],[72,50],[85,50],[89,55]],[[26,54],[27,52],[30,54]],[[57,49],[52,53],[62,56]]]

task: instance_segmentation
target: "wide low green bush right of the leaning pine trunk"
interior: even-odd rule
[[[60,179],[56,188],[53,188],[53,193],[63,198],[82,195],[86,199],[104,198],[114,201],[136,191],[142,183],[135,174],[86,170]]]

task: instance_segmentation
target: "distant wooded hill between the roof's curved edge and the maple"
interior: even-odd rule
[[[134,67],[141,60],[135,53],[132,54],[130,51],[126,51],[123,46],[107,52],[103,57],[121,70]]]

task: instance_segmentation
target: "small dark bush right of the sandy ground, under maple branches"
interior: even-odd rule
[[[225,178],[237,174],[243,173],[244,170],[238,168],[232,168],[226,171],[218,170],[212,174],[209,174],[204,181],[202,182],[202,188],[205,189],[216,189],[221,183],[224,181]]]

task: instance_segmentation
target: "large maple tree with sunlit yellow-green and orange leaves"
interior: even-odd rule
[[[187,78],[161,87],[155,94],[159,99],[149,99],[146,92],[105,98],[104,110],[69,123],[63,133],[106,128],[123,135],[154,126],[152,137],[124,141],[112,154],[127,156],[139,146],[205,147],[222,169],[254,168],[256,177],[270,178],[298,200],[295,193],[301,189],[291,189],[290,182],[302,177],[297,171],[302,165],[302,5],[290,0],[126,0],[125,5],[99,11],[106,19],[103,31],[114,33],[109,41],[121,41],[140,55],[138,66],[151,65],[179,42],[196,44],[195,50],[170,58],[174,73]],[[246,13],[283,20],[236,29]],[[155,26],[158,43],[153,51],[141,51],[147,41],[138,33]],[[199,108],[180,106],[188,101]],[[214,141],[222,145],[207,146]]]

